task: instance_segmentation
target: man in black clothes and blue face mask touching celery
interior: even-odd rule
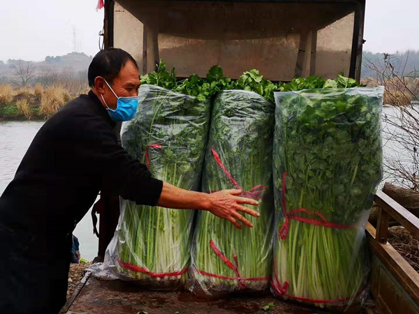
[[[100,190],[138,204],[207,210],[240,228],[240,190],[213,194],[151,177],[117,144],[117,121],[133,117],[140,80],[133,57],[103,50],[89,66],[89,95],[50,118],[0,197],[0,313],[58,313],[66,301],[72,232]]]

